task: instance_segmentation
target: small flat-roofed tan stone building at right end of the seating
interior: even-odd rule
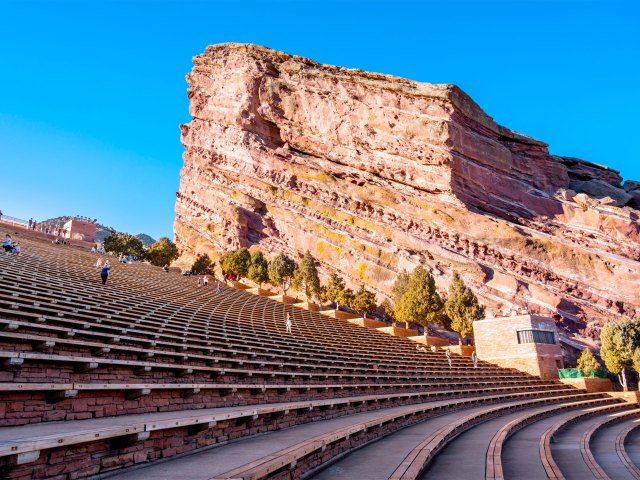
[[[520,329],[553,331],[556,342],[519,344]],[[479,359],[544,379],[558,378],[558,368],[563,367],[563,362],[553,319],[538,315],[492,318],[474,322],[473,331]]]

